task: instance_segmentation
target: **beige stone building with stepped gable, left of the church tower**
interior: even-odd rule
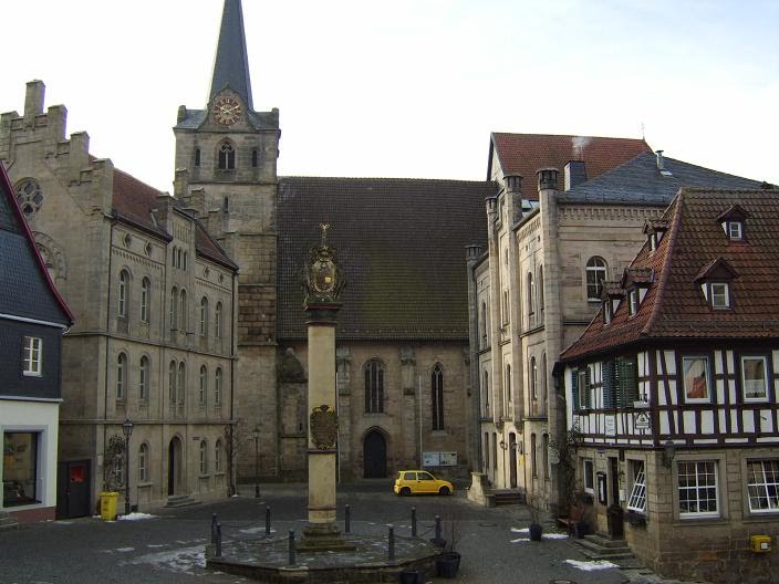
[[[23,115],[2,114],[0,159],[14,185],[40,185],[28,220],[76,315],[63,341],[59,459],[91,462],[95,500],[106,440],[128,418],[134,503],[224,496],[235,269],[202,252],[201,228],[177,201],[95,159],[85,133],[67,139],[65,108],[44,113],[43,93],[29,83]],[[152,205],[129,204],[141,196]]]

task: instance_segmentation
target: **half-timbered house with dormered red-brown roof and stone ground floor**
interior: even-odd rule
[[[664,574],[776,582],[779,191],[682,189],[644,234],[561,357],[575,488]]]

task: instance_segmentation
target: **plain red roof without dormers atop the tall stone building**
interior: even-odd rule
[[[537,199],[536,173],[541,168],[557,168],[562,180],[565,164],[583,160],[586,178],[592,179],[652,149],[643,139],[494,132],[490,135],[488,179],[494,152],[505,175],[523,177],[522,198]],[[562,184],[559,188],[562,189]]]

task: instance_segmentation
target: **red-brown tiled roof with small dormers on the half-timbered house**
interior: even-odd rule
[[[745,241],[730,241],[718,221],[731,205],[744,208]],[[654,282],[634,316],[620,303],[610,324],[602,314],[565,350],[563,361],[650,340],[779,337],[779,190],[684,188],[664,213],[669,229],[655,251],[645,244],[631,268],[651,269]],[[707,304],[696,278],[726,263],[733,310]]]

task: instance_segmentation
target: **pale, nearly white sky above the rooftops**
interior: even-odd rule
[[[67,133],[172,191],[222,0],[9,0],[0,112],[42,80]],[[280,176],[484,180],[490,132],[641,138],[779,184],[779,0],[243,0]]]

